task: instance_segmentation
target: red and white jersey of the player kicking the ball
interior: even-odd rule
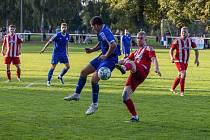
[[[146,70],[150,70],[152,57],[156,57],[156,54],[150,46],[141,47],[128,56],[130,60],[135,62],[136,67],[143,66]]]

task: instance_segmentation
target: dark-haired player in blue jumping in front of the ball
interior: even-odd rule
[[[80,93],[86,83],[87,76],[92,74],[92,104],[86,111],[86,115],[93,114],[98,109],[98,94],[99,94],[99,77],[97,71],[101,67],[108,67],[111,71],[115,68],[118,62],[118,55],[116,49],[116,41],[111,30],[103,23],[103,19],[99,16],[93,17],[90,20],[90,25],[93,30],[97,32],[98,43],[93,48],[85,48],[86,53],[92,53],[101,50],[101,54],[94,58],[90,63],[84,67],[80,72],[80,77],[76,86],[76,90],[72,95],[66,96],[64,100],[78,101]]]

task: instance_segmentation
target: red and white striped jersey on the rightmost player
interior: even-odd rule
[[[176,50],[175,62],[188,63],[190,57],[190,48],[196,48],[196,44],[192,41],[191,38],[182,38],[176,39],[172,44],[171,48]]]

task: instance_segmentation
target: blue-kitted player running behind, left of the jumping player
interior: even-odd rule
[[[58,79],[61,84],[64,84],[63,76],[69,70],[69,59],[68,59],[68,42],[70,35],[67,33],[67,24],[61,23],[61,31],[54,35],[44,46],[40,53],[43,53],[51,42],[54,42],[54,49],[52,53],[51,68],[48,72],[47,86],[51,85],[51,78],[58,62],[65,64],[65,67],[58,75]]]

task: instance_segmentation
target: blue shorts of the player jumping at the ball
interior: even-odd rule
[[[115,61],[112,60],[101,60],[98,57],[90,61],[90,64],[98,71],[101,67],[107,67],[112,72],[115,68]]]

